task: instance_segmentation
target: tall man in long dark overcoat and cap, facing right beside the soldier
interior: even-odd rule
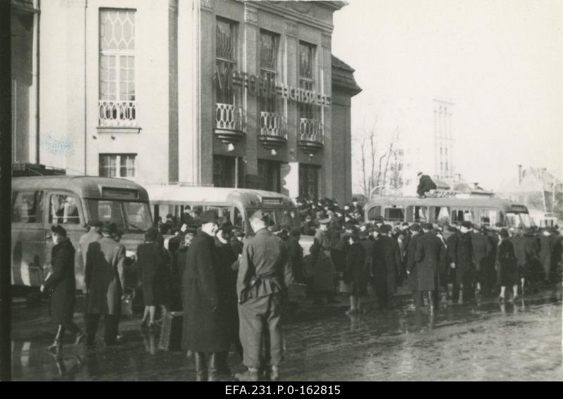
[[[182,346],[194,353],[197,381],[216,381],[218,353],[227,352],[231,343],[229,296],[219,279],[224,270],[216,258],[217,215],[208,210],[200,215],[200,220],[201,231],[191,241],[182,274]]]

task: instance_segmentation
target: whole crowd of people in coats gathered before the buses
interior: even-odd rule
[[[362,310],[368,285],[381,309],[396,307],[398,287],[406,285],[417,308],[434,312],[443,300],[469,303],[498,295],[500,302],[512,301],[559,281],[562,239],[557,229],[471,222],[392,226],[382,217],[365,221],[357,198],[342,208],[326,198],[296,202],[300,228],[276,224],[258,210],[249,216],[251,230],[245,234],[208,210],[196,215],[198,229],[187,221],[176,225],[170,215],[148,229],[146,242],[137,248],[145,306],[141,327],[157,329],[158,310],[161,315],[183,310],[182,344],[194,357],[198,381],[230,376],[231,346],[247,367],[238,379],[279,378],[281,309],[292,283],[305,285],[316,304],[349,296],[348,314],[354,314]],[[80,239],[85,333],[72,322],[75,249],[63,227],[55,225],[52,232],[53,273],[41,288],[51,293],[51,319],[57,324],[49,349],[60,352],[67,330],[75,343],[86,338],[87,346],[94,346],[101,315],[104,341],[115,345],[125,287],[120,232],[115,224],[92,220]],[[174,234],[167,249],[164,234]],[[307,256],[301,235],[313,237]]]

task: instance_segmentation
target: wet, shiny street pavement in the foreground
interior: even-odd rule
[[[360,315],[304,300],[284,324],[284,381],[551,380],[563,381],[563,306],[550,290],[500,305],[443,301],[434,313],[415,310],[403,296],[394,310],[367,300]],[[195,379],[194,360],[158,348],[159,333],[139,329],[140,316],[120,322],[122,341],[106,348],[73,346],[70,335],[57,359],[48,304],[13,305],[13,380],[161,381]],[[75,317],[83,328],[82,315]],[[99,331],[99,339],[101,331]],[[229,355],[233,372],[243,371]]]

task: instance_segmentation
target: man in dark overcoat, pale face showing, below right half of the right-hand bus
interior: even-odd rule
[[[471,222],[462,222],[460,234],[453,248],[450,248],[450,267],[454,270],[453,303],[460,299],[460,287],[464,302],[474,299],[474,262],[471,237]],[[449,247],[449,246],[448,246]]]

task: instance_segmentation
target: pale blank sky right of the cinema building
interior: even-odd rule
[[[350,0],[332,51],[363,89],[353,135],[445,96],[464,178],[498,189],[519,163],[563,177],[563,1]]]

